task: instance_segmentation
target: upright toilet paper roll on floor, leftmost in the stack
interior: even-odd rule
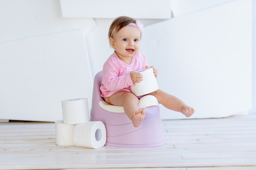
[[[75,125],[64,124],[63,120],[55,121],[56,145],[74,146],[74,128]]]

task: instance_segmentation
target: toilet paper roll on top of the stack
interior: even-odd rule
[[[88,99],[61,101],[64,124],[81,124],[90,120]]]

